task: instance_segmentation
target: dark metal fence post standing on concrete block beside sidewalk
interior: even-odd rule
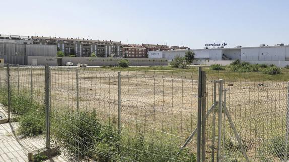
[[[50,101],[49,101],[49,66],[45,66],[45,147],[50,148]]]

